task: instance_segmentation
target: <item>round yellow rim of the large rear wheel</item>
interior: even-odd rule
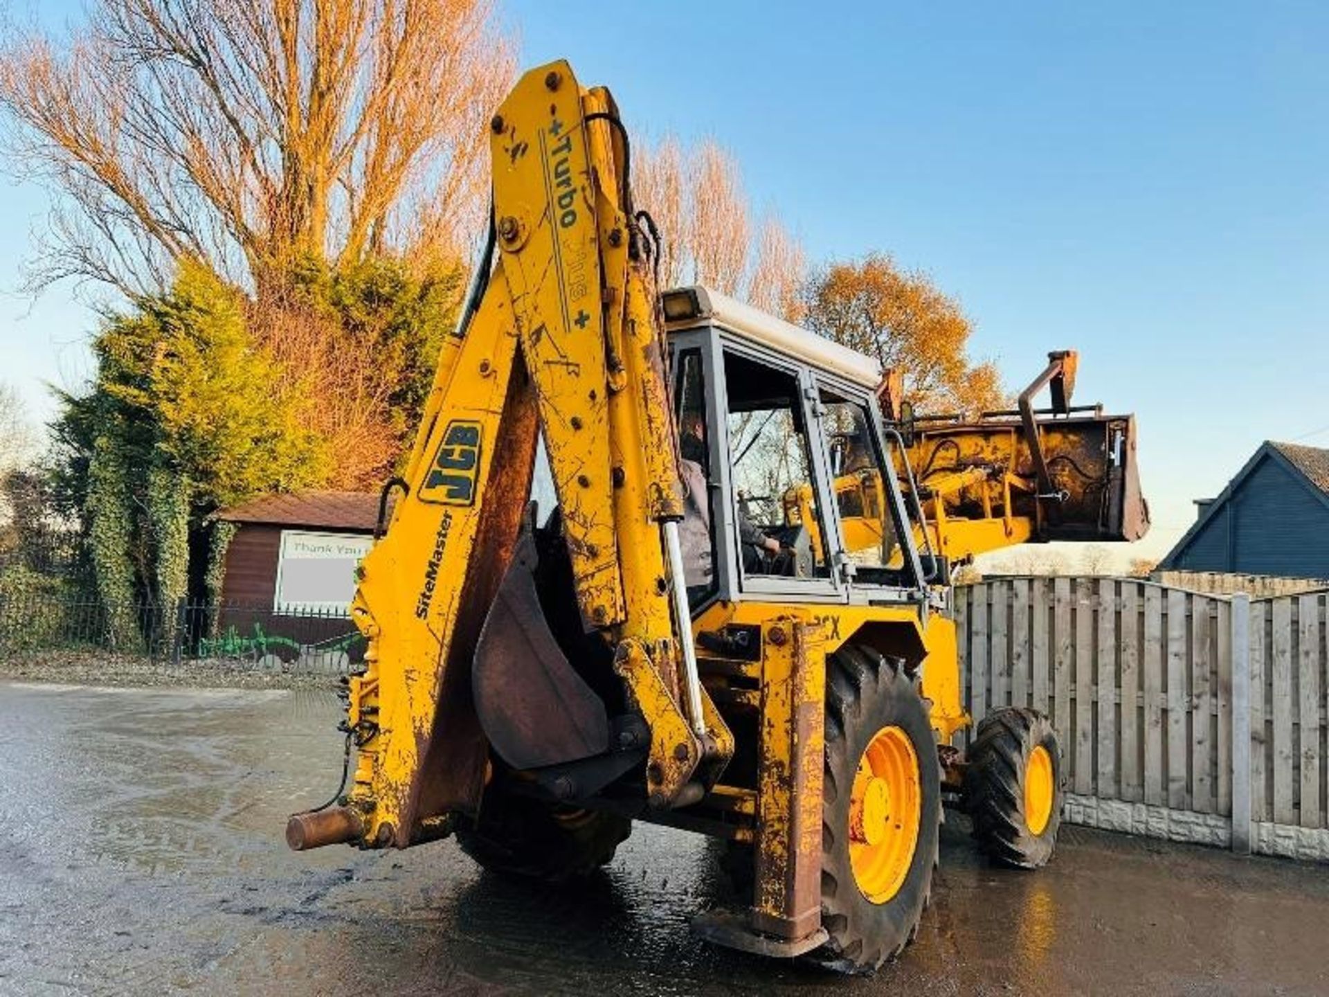
[[[922,780],[913,742],[882,727],[859,759],[849,796],[849,865],[859,891],[884,904],[904,885],[918,845]]]

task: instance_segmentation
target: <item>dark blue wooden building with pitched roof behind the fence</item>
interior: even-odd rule
[[[1159,570],[1329,578],[1329,449],[1267,441]]]

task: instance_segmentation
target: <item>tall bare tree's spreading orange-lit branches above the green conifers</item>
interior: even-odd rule
[[[68,45],[11,39],[13,162],[65,195],[32,279],[130,294],[455,249],[514,73],[489,0],[93,0]]]

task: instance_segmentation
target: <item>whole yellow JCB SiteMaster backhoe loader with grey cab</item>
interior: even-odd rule
[[[287,840],[455,833],[488,868],[563,880],[634,820],[687,828],[751,889],[695,919],[703,937],[872,969],[917,931],[944,794],[995,859],[1051,853],[1047,720],[998,711],[968,758],[950,746],[969,718],[948,572],[979,533],[1140,532],[1131,421],[1073,420],[1061,358],[1055,412],[932,427],[865,356],[658,292],[618,108],[565,62],[490,129],[484,259],[351,606],[354,776]]]

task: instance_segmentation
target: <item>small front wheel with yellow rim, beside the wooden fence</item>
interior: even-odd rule
[[[968,762],[964,804],[978,845],[1001,865],[1046,865],[1062,823],[1062,750],[1051,722],[1035,710],[997,710],[978,724]]]

